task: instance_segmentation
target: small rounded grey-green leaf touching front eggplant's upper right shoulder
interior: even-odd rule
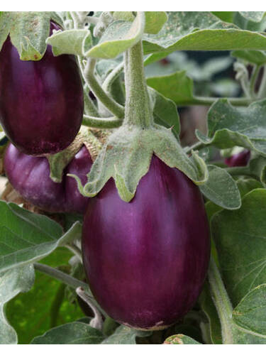
[[[208,165],[209,179],[200,186],[201,192],[212,202],[226,209],[238,209],[241,197],[235,180],[226,170]]]

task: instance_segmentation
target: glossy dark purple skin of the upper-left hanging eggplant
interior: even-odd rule
[[[51,22],[52,30],[59,26]],[[82,124],[83,88],[73,55],[19,59],[8,37],[0,52],[0,123],[10,141],[29,155],[57,153]]]

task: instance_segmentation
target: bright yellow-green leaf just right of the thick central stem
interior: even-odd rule
[[[160,77],[148,77],[147,84],[177,105],[189,104],[194,100],[193,80],[187,76],[185,70]]]

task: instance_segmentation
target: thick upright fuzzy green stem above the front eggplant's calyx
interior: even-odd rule
[[[143,66],[141,40],[125,53],[125,124],[148,128],[153,123]]]

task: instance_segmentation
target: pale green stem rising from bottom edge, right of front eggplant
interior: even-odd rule
[[[229,300],[228,294],[226,293],[226,288],[223,285],[220,272],[218,271],[214,258],[212,257],[208,276],[211,286],[211,296],[214,300],[214,305],[221,322],[223,344],[234,344],[232,320],[233,307]]]

